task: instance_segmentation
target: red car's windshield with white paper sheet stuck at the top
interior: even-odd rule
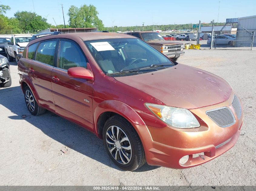
[[[158,50],[137,38],[91,40],[85,41],[85,44],[107,75],[121,75],[125,71],[135,75],[174,65]]]

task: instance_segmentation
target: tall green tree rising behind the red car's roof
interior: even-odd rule
[[[102,21],[98,18],[98,11],[93,5],[82,5],[77,8],[71,5],[68,9],[69,27],[71,28],[93,28],[104,30]]]

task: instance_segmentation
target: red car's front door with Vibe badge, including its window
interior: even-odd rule
[[[59,112],[63,112],[63,110],[70,112],[71,120],[78,124],[83,121],[83,126],[93,130],[93,82],[81,78],[70,78],[68,68],[72,67],[87,68],[87,59],[77,43],[60,40],[57,67],[52,70],[52,91],[55,105],[59,108]],[[57,108],[56,113],[58,113]],[[62,115],[62,113],[59,114]]]

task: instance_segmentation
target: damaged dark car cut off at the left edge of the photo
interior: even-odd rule
[[[0,86],[6,88],[11,85],[12,78],[8,59],[0,55]]]

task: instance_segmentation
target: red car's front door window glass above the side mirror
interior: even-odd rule
[[[81,49],[73,42],[61,40],[58,51],[58,68],[86,68],[87,62]]]

